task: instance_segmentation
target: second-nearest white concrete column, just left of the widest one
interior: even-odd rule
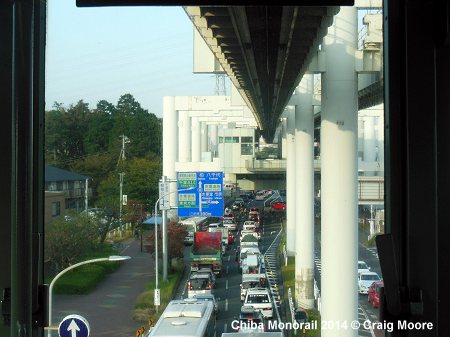
[[[295,298],[314,308],[314,120],[313,75],[304,75],[295,106]]]

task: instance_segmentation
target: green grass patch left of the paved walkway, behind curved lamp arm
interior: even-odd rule
[[[102,245],[97,252],[85,256],[78,262],[117,255],[117,251],[110,245]],[[121,262],[96,262],[72,269],[61,276],[54,285],[54,294],[88,294],[110,273],[119,268]],[[50,284],[53,277],[46,278]]]

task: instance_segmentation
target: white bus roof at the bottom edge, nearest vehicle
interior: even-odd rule
[[[172,300],[145,337],[216,337],[214,301]]]

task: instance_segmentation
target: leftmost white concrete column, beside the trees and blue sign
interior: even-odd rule
[[[176,179],[175,162],[178,160],[178,125],[175,97],[163,98],[163,175],[168,179]],[[170,184],[170,190],[176,189],[175,183]],[[170,195],[170,205],[176,206],[177,194]]]

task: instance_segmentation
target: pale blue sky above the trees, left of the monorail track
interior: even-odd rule
[[[77,8],[49,0],[46,110],[79,100],[114,105],[130,93],[162,117],[163,96],[214,95],[215,77],[192,73],[193,25],[181,7]]]

